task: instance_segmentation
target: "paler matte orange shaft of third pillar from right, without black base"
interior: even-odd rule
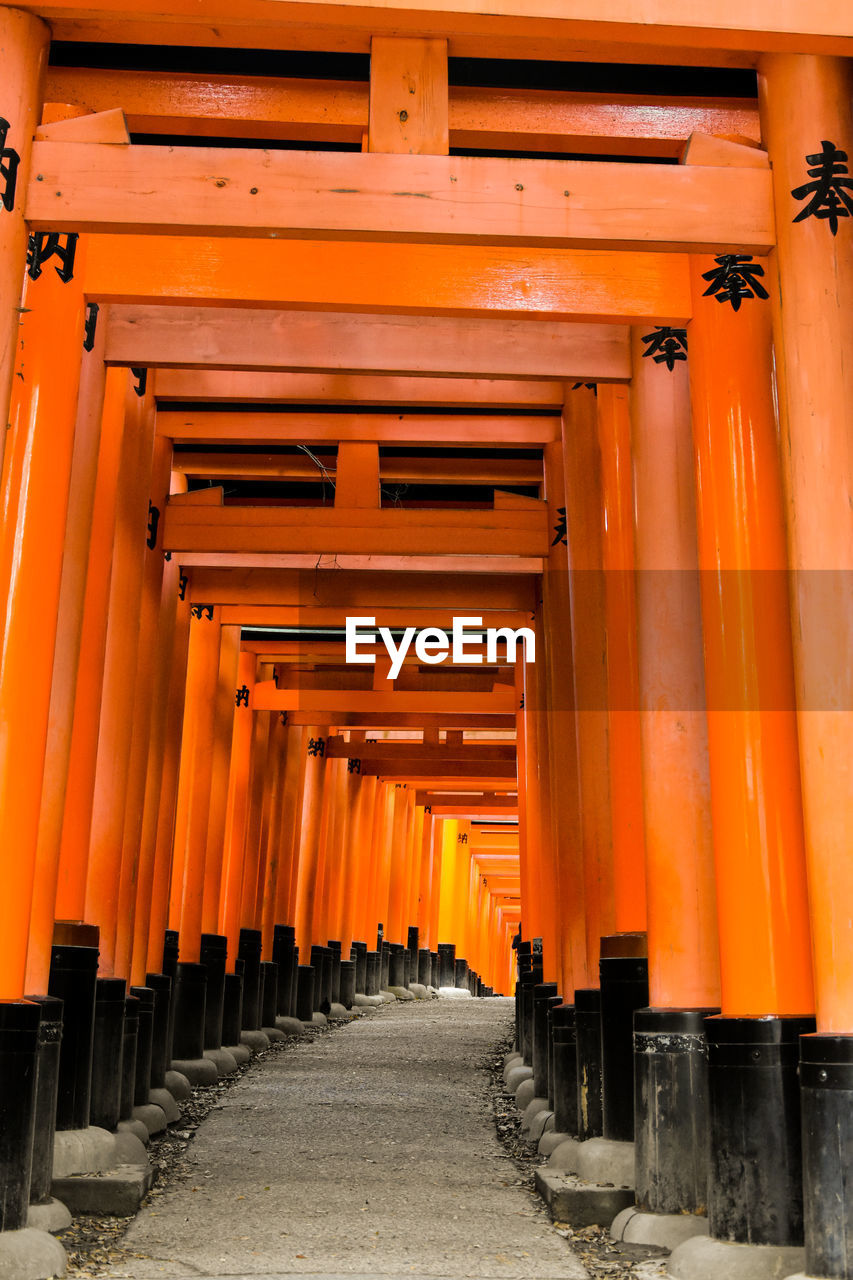
[[[631,388],[649,1004],[720,1001],[686,367],[643,358]]]

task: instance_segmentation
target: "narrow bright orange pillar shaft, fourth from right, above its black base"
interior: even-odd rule
[[[630,933],[646,929],[646,840],[637,666],[631,420],[626,388],[598,388],[598,444],[608,689],[607,746],[613,840],[613,923],[617,933]]]

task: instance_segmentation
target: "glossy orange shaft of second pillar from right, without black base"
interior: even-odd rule
[[[690,404],[722,1012],[813,1010],[770,303],[704,298]]]

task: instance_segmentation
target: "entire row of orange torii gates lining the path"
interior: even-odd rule
[[[188,1057],[223,946],[251,1030],[261,956],[296,1011],[293,940],[345,989],[383,952],[438,982],[441,943],[510,992],[520,928],[569,1010],[647,951],[639,1202],[853,1276],[853,24],[608,8],[0,9],[4,1233],[32,997],[79,963],[93,1001],[83,952],[170,966]],[[370,79],[86,65],[128,44]],[[448,55],[754,67],[758,100]],[[345,660],[347,618],[460,616],[535,662]]]

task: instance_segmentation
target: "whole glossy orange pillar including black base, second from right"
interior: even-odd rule
[[[747,283],[760,264],[744,270],[692,260],[688,330],[722,1005],[706,1023],[708,1216],[719,1239],[797,1245],[811,937],[771,316]]]

